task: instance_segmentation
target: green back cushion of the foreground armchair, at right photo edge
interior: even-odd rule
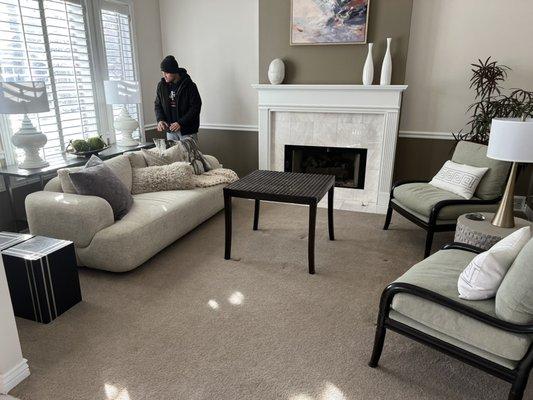
[[[496,314],[515,324],[533,323],[533,239],[522,248],[498,288]]]

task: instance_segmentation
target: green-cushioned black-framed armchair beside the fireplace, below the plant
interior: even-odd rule
[[[487,146],[465,141],[457,143],[452,161],[489,168],[470,200],[436,188],[428,181],[400,181],[391,190],[383,229],[389,228],[393,210],[425,229],[427,236],[424,257],[431,252],[434,233],[455,230],[457,218],[461,214],[496,212],[511,167],[508,162],[488,158]]]

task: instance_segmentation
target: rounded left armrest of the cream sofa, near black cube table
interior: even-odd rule
[[[115,223],[111,205],[96,196],[35,192],[26,197],[30,233],[71,240],[87,247],[94,235]]]

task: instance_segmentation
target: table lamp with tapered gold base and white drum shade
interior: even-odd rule
[[[492,120],[487,156],[511,161],[511,173],[492,225],[514,228],[514,185],[518,163],[533,162],[533,119],[494,118]]]

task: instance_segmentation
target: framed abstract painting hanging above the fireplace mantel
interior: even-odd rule
[[[364,44],[370,0],[292,0],[291,45]]]

